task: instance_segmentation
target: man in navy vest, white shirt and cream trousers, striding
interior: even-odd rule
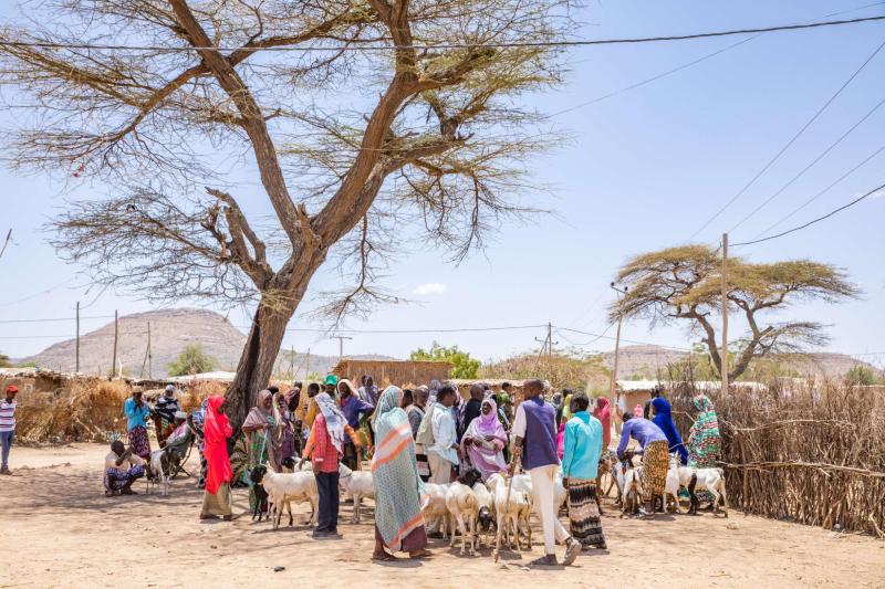
[[[532,477],[534,508],[541,516],[544,529],[544,556],[532,561],[533,566],[555,566],[555,540],[565,543],[565,565],[571,565],[581,554],[581,543],[572,538],[556,517],[559,505],[554,503],[556,467],[556,410],[541,398],[544,383],[529,380],[523,385],[524,400],[517,408],[513,434],[517,437],[510,474],[517,461]]]

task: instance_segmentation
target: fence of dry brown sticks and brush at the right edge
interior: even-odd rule
[[[694,387],[673,393],[688,431]],[[822,382],[716,403],[731,502],[747,512],[885,537],[885,396]]]

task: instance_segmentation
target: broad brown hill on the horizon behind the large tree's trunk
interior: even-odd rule
[[[148,376],[145,362],[147,350],[147,326],[150,324],[150,376],[167,376],[166,367],[175,360],[188,344],[202,344],[206,353],[218,360],[218,370],[236,370],[246,345],[246,335],[222,315],[212,311],[176,308],[136,313],[119,317],[117,358],[125,375]],[[22,358],[22,362],[35,362],[42,368],[73,372],[75,368],[75,340],[69,339],[48,347],[40,354]],[[114,349],[114,322],[80,336],[80,371],[107,374],[111,370]],[[358,359],[391,359],[387,356],[352,356]],[[277,372],[289,375],[290,367],[295,378],[310,372],[326,374],[336,362],[336,356],[319,356],[282,350],[277,360]]]

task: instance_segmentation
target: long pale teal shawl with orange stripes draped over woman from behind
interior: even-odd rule
[[[418,476],[412,427],[399,407],[402,398],[398,387],[387,387],[372,418],[376,441],[372,457],[375,527],[384,545],[394,551],[402,549],[403,538],[424,526],[424,483]]]

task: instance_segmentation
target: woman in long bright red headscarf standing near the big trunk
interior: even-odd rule
[[[228,456],[228,438],[233,435],[230,420],[225,414],[227,401],[221,396],[209,397],[204,425],[204,450],[206,456],[206,492],[202,495],[200,519],[221,517],[230,520],[230,480],[233,472]]]

